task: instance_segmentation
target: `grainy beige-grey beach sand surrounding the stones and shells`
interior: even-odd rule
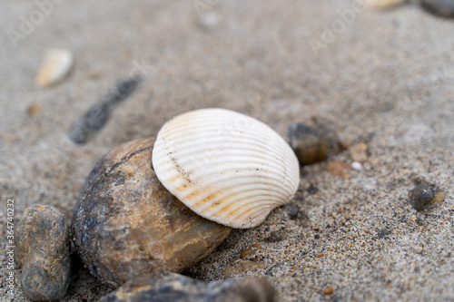
[[[184,274],[267,276],[280,301],[454,301],[453,20],[413,4],[374,11],[347,0],[52,4],[0,3],[2,226],[8,199],[15,223],[35,203],[69,221],[105,152],[155,136],[178,113],[228,108],[282,135],[291,122],[316,117],[347,146],[366,143],[363,170],[348,178],[327,171],[331,161],[350,163],[349,151],[303,167],[291,205],[235,230]],[[37,88],[35,74],[55,47],[74,53],[74,70]],[[104,128],[84,145],[70,141],[71,124],[136,73],[143,82]],[[446,200],[417,212],[413,180]],[[4,250],[6,228],[0,234]],[[240,258],[255,243],[261,248]],[[236,268],[245,261],[249,270]],[[26,301],[19,275],[17,268],[12,300]],[[6,289],[3,279],[0,300],[10,300]],[[64,301],[95,301],[109,290],[80,269]]]

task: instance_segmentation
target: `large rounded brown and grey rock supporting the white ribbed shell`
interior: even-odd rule
[[[179,272],[208,256],[231,228],[196,215],[156,178],[153,139],[126,142],[91,172],[74,212],[74,244],[95,277]]]

